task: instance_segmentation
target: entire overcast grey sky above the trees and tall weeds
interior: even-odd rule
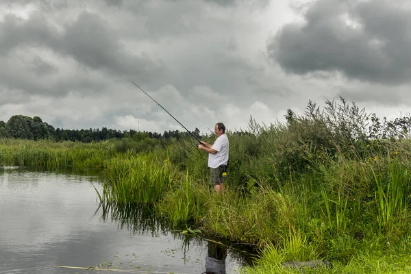
[[[0,121],[207,133],[344,97],[411,110],[410,1],[3,0]]]

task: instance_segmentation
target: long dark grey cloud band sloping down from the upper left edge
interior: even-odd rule
[[[13,49],[42,47],[63,58],[73,58],[82,66],[102,70],[116,77],[134,77],[149,82],[151,75],[161,76],[162,69],[148,54],[138,55],[123,47],[120,38],[101,16],[89,12],[59,31],[35,12],[23,21],[7,15],[0,22],[0,55]]]

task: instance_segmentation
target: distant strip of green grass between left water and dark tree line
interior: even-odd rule
[[[105,160],[118,155],[136,155],[157,148],[146,140],[105,140],[102,142],[53,142],[0,138],[0,165],[32,166],[45,169],[104,169]],[[164,144],[160,142],[160,147]],[[166,157],[162,157],[164,160]]]

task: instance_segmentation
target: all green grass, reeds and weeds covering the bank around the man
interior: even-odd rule
[[[102,169],[101,201],[149,203],[174,229],[255,246],[261,257],[245,273],[300,273],[280,263],[317,259],[334,269],[306,273],[410,272],[411,120],[379,121],[344,100],[286,119],[227,132],[225,195],[208,186],[207,155],[189,138],[3,139],[0,164]]]

